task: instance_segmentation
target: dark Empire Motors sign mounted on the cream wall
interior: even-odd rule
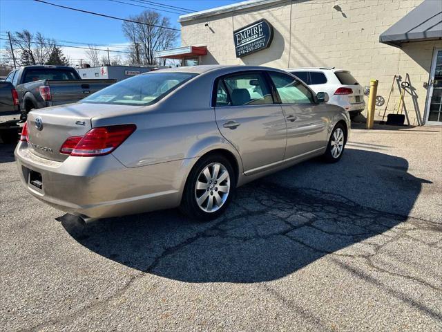
[[[273,39],[273,26],[265,19],[233,31],[236,57],[244,57],[268,48],[271,39]]]

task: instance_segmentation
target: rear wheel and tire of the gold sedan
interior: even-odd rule
[[[204,156],[187,177],[180,210],[192,219],[216,219],[227,209],[235,190],[236,174],[229,160],[218,154]]]

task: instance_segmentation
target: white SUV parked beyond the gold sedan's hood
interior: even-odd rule
[[[365,109],[362,86],[349,71],[335,68],[289,68],[285,71],[297,76],[316,93],[327,92],[329,104],[335,104],[354,118]]]

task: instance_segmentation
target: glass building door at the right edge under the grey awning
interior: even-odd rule
[[[442,124],[442,48],[434,50],[425,124]]]

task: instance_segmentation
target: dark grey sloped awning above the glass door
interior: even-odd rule
[[[405,42],[442,38],[442,1],[424,0],[419,6],[390,26],[379,42],[401,47]]]

